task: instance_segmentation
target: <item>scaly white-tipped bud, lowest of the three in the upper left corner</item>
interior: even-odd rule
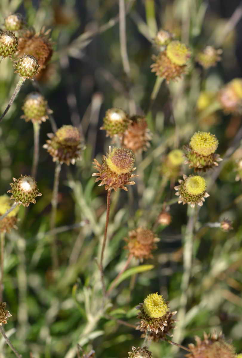
[[[15,73],[20,76],[33,79],[33,76],[38,73],[38,61],[32,55],[23,55],[18,62],[15,62]]]

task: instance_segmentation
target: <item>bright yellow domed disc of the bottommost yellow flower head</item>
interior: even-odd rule
[[[151,318],[160,318],[169,311],[163,296],[158,295],[157,292],[151,293],[145,298],[143,308]]]

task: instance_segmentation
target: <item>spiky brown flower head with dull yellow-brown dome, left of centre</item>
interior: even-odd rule
[[[84,146],[81,142],[81,134],[77,127],[64,125],[57,132],[47,134],[50,139],[46,141],[43,148],[53,157],[53,161],[60,164],[75,164],[81,159],[81,151]]]

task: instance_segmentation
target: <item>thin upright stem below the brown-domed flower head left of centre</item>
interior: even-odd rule
[[[58,188],[59,188],[60,169],[61,169],[61,164],[59,162],[57,162],[55,165],[53,195],[52,195],[52,200],[51,200],[52,209],[51,209],[51,217],[50,217],[50,231],[54,230],[54,228],[55,228],[55,219],[56,219],[57,204],[58,204]],[[58,263],[57,245],[55,242],[55,235],[52,236],[51,256],[52,256],[53,270],[57,270],[59,263]]]

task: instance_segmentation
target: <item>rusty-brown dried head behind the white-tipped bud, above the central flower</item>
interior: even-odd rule
[[[151,132],[147,128],[144,117],[132,116],[130,124],[124,132],[123,146],[131,149],[134,153],[146,151],[150,147]]]

